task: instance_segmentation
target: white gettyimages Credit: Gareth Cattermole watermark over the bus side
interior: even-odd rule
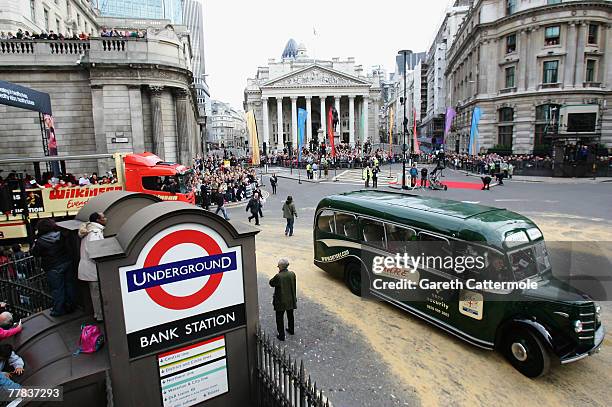
[[[525,290],[537,289],[538,284],[529,278],[521,281],[499,278],[504,273],[503,263],[495,264],[497,260],[488,256],[431,256],[421,253],[418,256],[407,253],[395,256],[375,256],[372,261],[372,272],[380,277],[372,280],[375,290]],[[496,274],[499,267],[498,278],[487,278],[487,275]],[[420,270],[453,271],[463,278],[447,281],[432,281],[421,277]],[[492,272],[491,269],[494,269]],[[475,278],[479,276],[479,278]],[[383,278],[385,277],[385,278]]]

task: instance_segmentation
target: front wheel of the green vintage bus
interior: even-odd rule
[[[550,369],[550,356],[544,344],[525,328],[509,335],[503,353],[512,366],[527,377],[543,376]]]

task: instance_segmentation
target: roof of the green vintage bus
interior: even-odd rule
[[[361,190],[332,195],[319,208],[369,215],[503,249],[506,234],[537,228],[528,218],[492,206],[391,191]]]

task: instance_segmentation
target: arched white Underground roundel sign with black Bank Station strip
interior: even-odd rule
[[[208,226],[164,229],[119,275],[132,358],[246,323],[241,247]]]

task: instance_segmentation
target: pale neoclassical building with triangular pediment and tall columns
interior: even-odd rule
[[[297,111],[307,111],[306,143],[328,141],[327,111],[334,106],[339,123],[335,143],[350,146],[373,140],[378,134],[380,84],[364,75],[355,59],[310,58],[303,44],[290,40],[280,61],[269,59],[248,79],[244,108],[253,110],[259,146],[265,153],[297,147]],[[249,146],[250,147],[250,146]]]

